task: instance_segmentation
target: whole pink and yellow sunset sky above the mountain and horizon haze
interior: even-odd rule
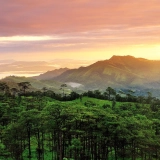
[[[160,59],[160,0],[0,0],[0,59]]]

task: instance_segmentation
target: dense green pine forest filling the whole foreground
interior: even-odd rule
[[[0,159],[159,160],[160,101],[88,91],[21,93],[0,84]],[[114,95],[114,96],[113,96]],[[93,98],[91,98],[93,97]]]

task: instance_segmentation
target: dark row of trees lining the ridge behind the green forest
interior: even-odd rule
[[[140,103],[151,103],[152,100],[156,100],[155,97],[152,97],[152,94],[148,92],[148,96],[135,96],[132,90],[126,90],[125,92],[119,91],[116,92],[115,89],[111,87],[107,87],[107,89],[103,92],[100,90],[89,90],[82,94],[76,93],[75,91],[71,91],[70,93],[66,93],[65,88],[67,88],[66,84],[62,84],[60,86],[60,90],[62,92],[55,93],[53,90],[47,89],[43,87],[41,90],[37,91],[29,91],[28,89],[31,87],[29,82],[20,82],[17,83],[17,88],[9,88],[8,85],[4,82],[0,82],[0,91],[4,93],[4,95],[25,95],[25,96],[47,96],[60,101],[71,101],[77,98],[82,98],[83,96],[88,96],[97,99],[103,100],[116,100],[119,102],[140,102]],[[27,91],[27,92],[26,92]],[[158,99],[157,99],[158,100]]]

